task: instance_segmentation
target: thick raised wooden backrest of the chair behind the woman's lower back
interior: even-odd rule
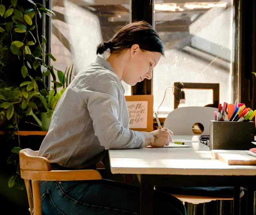
[[[38,151],[22,149],[19,152],[20,169],[32,171],[50,171],[50,161],[44,157],[37,157]]]

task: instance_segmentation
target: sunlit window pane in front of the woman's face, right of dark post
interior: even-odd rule
[[[232,1],[165,2],[168,1],[155,0],[155,29],[165,43],[165,57],[161,58],[154,69],[153,94],[157,95],[154,96],[154,111],[161,104],[165,89],[179,81],[219,83],[220,103],[233,102]],[[212,101],[209,90],[184,89],[184,92],[189,106],[204,106]],[[169,88],[159,114],[171,112],[173,103],[173,91]]]

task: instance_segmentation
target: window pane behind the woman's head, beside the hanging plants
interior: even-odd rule
[[[74,64],[76,75],[95,62],[99,43],[110,40],[117,28],[130,22],[130,1],[114,2],[53,0],[56,16],[52,19],[51,53],[57,61],[51,64],[56,69],[64,72],[67,65]],[[131,86],[123,85],[125,95],[131,95]]]

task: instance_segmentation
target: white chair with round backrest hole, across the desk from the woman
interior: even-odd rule
[[[204,131],[200,135],[210,134],[210,120],[214,120],[214,111],[218,111],[213,107],[181,107],[170,112],[165,119],[164,128],[171,130],[174,135],[196,135],[192,131],[192,127],[195,123],[201,123],[204,126]],[[228,119],[226,114],[225,119]],[[168,191],[170,194],[171,188]],[[233,197],[216,197],[216,196],[204,196],[202,193],[193,193],[192,195],[184,195],[173,193],[176,198],[188,203],[199,204],[206,203],[212,200],[232,200]],[[244,191],[240,192],[240,198],[244,195]]]

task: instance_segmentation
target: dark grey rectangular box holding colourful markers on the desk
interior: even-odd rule
[[[255,122],[210,121],[210,150],[249,150],[256,148]]]

